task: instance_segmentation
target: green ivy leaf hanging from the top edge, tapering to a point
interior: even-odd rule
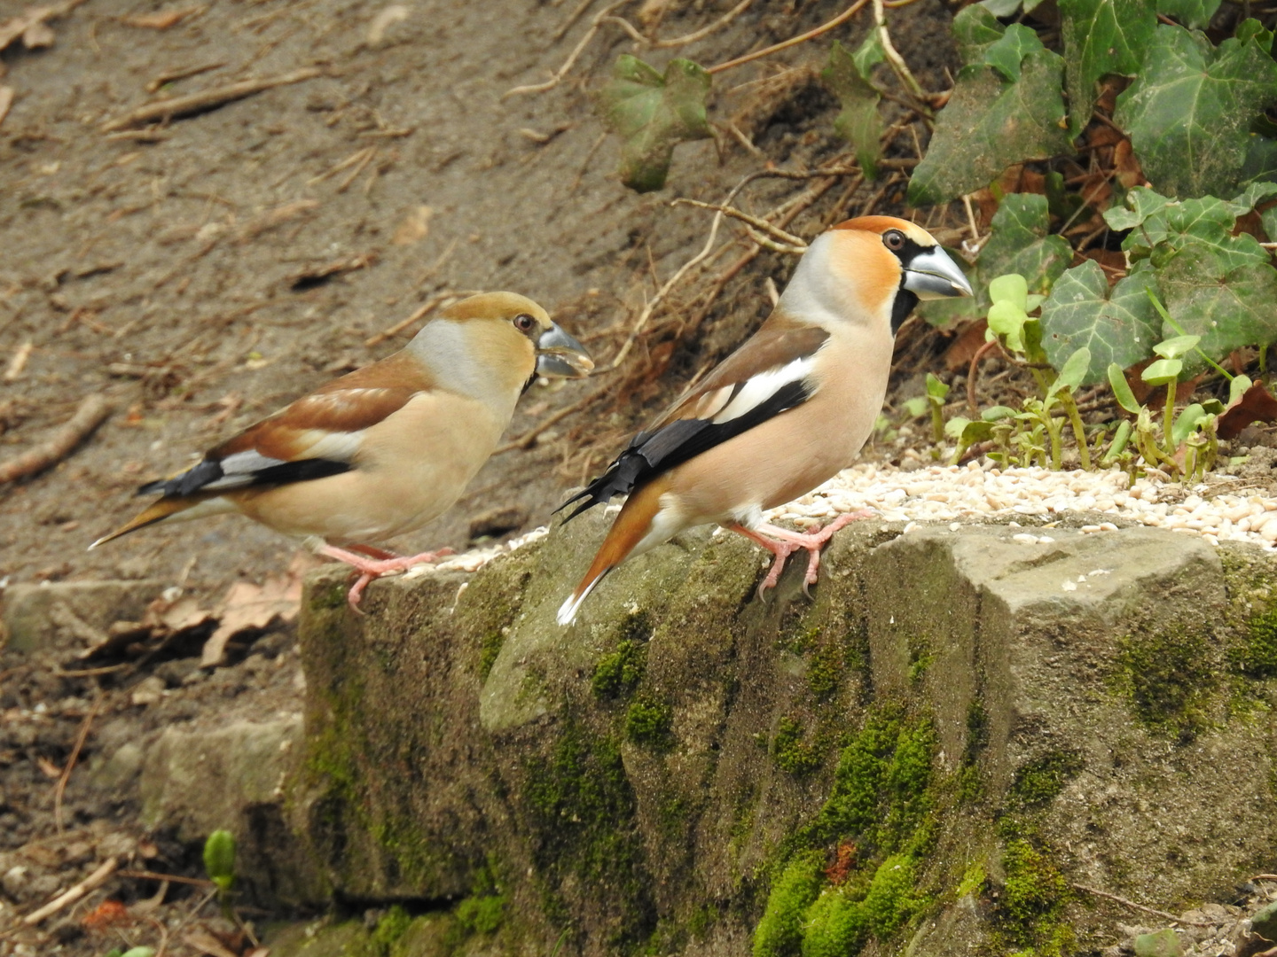
[[[1091,121],[1096,82],[1139,70],[1157,29],[1153,0],[1060,0],[1060,32],[1069,91],[1069,131]]]

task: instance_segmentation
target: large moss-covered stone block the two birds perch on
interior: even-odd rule
[[[1255,550],[867,521],[760,601],[765,556],[699,530],[561,628],[607,523],[365,618],[309,582],[289,820],[341,898],[439,912],[396,948],[1062,956],[1111,943],[1073,883],[1174,909],[1277,852]]]

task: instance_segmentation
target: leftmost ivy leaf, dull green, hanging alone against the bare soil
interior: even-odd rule
[[[622,54],[599,94],[604,120],[621,135],[621,181],[638,193],[665,185],[674,147],[710,135],[705,101],[710,74],[691,60],[670,60],[661,77]]]

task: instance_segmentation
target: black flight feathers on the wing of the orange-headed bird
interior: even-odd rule
[[[555,512],[573,501],[586,499],[564,519],[571,522],[582,512],[605,504],[613,495],[628,495],[636,485],[650,481],[661,472],[681,466],[702,452],[728,439],[750,431],[756,425],[778,416],[811,398],[813,389],[803,379],[785,383],[766,401],[736,419],[714,424],[707,419],[676,419],[655,431],[638,433],[630,445],[608,466],[607,471],[570,498]]]

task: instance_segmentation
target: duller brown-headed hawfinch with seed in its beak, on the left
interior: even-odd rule
[[[512,292],[446,309],[402,350],[359,369],[143,485],[158,501],[89,547],[157,522],[239,512],[373,578],[432,561],[369,542],[447,512],[488,461],[538,375],[580,378],[594,362],[539,305]],[[344,545],[347,547],[338,547]],[[356,554],[361,553],[361,554]]]

